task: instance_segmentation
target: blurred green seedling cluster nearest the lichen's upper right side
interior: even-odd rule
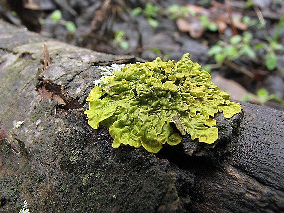
[[[248,32],[244,32],[243,36],[232,36],[228,43],[218,41],[209,49],[208,55],[214,56],[215,61],[220,65],[224,60],[233,61],[242,55],[254,58],[256,57],[256,53],[249,43],[251,39],[252,35]]]

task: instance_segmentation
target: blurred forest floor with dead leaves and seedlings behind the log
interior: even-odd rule
[[[282,0],[1,0],[0,19],[149,61],[188,52],[232,99],[284,110]]]

